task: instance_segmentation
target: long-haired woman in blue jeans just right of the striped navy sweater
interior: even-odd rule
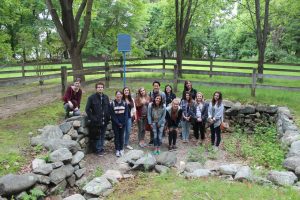
[[[133,148],[129,145],[129,137],[131,133],[132,122],[136,120],[136,108],[133,98],[131,97],[131,92],[128,87],[123,89],[123,101],[125,101],[128,105],[128,119],[125,127],[125,138],[124,138],[124,146],[127,149],[132,150]]]

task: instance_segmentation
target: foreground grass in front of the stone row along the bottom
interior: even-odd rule
[[[222,181],[217,178],[188,180],[175,173],[140,174],[134,180],[119,184],[108,199],[299,199],[291,188],[271,188],[253,183]]]

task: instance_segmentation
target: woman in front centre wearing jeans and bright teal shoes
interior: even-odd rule
[[[148,106],[148,123],[153,131],[153,143],[155,150],[154,155],[160,154],[160,145],[162,141],[162,134],[165,125],[166,117],[166,106],[162,102],[162,97],[160,95],[156,96],[154,101]]]

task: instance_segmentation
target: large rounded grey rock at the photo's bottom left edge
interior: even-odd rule
[[[17,194],[31,188],[37,182],[34,174],[7,174],[0,178],[0,195]]]

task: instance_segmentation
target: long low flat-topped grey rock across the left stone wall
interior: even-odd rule
[[[81,149],[80,145],[74,140],[51,139],[44,144],[45,148],[50,151],[55,151],[61,148],[67,148],[73,154]]]

